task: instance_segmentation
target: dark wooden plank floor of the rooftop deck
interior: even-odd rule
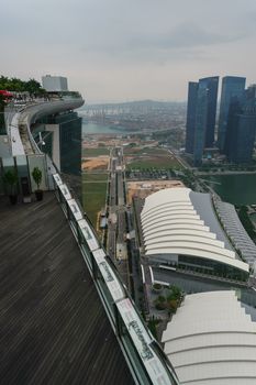
[[[133,384],[52,193],[0,199],[0,383]]]

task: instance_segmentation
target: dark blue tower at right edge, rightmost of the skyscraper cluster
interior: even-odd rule
[[[249,163],[256,132],[256,98],[231,101],[224,152],[230,162]]]

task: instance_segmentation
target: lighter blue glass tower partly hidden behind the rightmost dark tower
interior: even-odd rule
[[[245,90],[245,77],[225,76],[222,79],[221,106],[218,129],[218,145],[224,152],[229,109],[232,98],[241,98]]]

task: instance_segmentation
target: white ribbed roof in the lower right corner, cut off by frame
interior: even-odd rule
[[[256,322],[234,290],[188,295],[163,333],[180,384],[256,384]]]

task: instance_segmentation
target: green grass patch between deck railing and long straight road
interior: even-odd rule
[[[82,206],[94,228],[97,213],[105,204],[107,182],[108,174],[82,174]]]

